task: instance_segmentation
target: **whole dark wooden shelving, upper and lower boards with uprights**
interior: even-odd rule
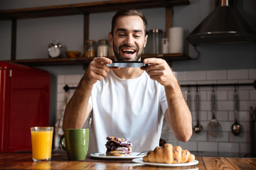
[[[102,13],[117,11],[119,8],[166,8],[166,30],[171,28],[172,23],[172,7],[183,6],[190,4],[189,0],[113,0],[113,1],[97,1],[82,4],[65,4],[58,6],[42,6],[33,8],[18,8],[0,11],[1,20],[11,20],[11,60],[18,64],[28,66],[39,65],[68,65],[68,64],[88,64],[92,58],[55,58],[55,59],[34,59],[34,60],[16,60],[16,31],[17,20],[23,18],[40,18],[51,16],[68,16],[68,15],[83,15],[84,16],[84,42],[89,38],[89,15],[90,13]],[[169,33],[166,31],[166,38],[169,38]],[[188,60],[189,57],[179,54],[168,55],[143,55],[142,57],[162,57],[167,62],[174,60]]]

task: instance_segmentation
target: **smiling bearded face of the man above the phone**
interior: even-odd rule
[[[114,55],[119,61],[138,61],[146,46],[146,20],[143,21],[144,18],[139,16],[117,16],[119,15],[113,18],[112,30],[109,33]]]

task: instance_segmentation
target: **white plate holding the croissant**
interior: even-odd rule
[[[132,159],[132,162],[151,165],[151,166],[191,166],[191,165],[198,164],[198,160],[194,160],[193,162],[180,163],[180,164],[160,164],[160,163],[152,163],[152,162],[143,162],[142,158]]]

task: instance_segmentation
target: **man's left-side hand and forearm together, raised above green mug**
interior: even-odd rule
[[[68,128],[82,128],[82,125],[85,124],[85,120],[87,120],[92,111],[92,107],[88,101],[93,84],[95,84],[97,80],[102,80],[103,77],[106,77],[110,69],[119,69],[119,67],[107,67],[106,64],[111,63],[112,60],[107,57],[95,57],[89,64],[87,71],[80,80],[75,89],[75,93],[72,98],[70,98],[65,108],[63,130]]]

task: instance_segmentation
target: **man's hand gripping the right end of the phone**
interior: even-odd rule
[[[147,58],[144,60],[144,63],[149,64],[149,66],[143,67],[142,69],[149,74],[151,79],[159,81],[161,85],[169,86],[176,81],[171,67],[169,67],[169,64],[167,64],[165,60],[159,58]]]

